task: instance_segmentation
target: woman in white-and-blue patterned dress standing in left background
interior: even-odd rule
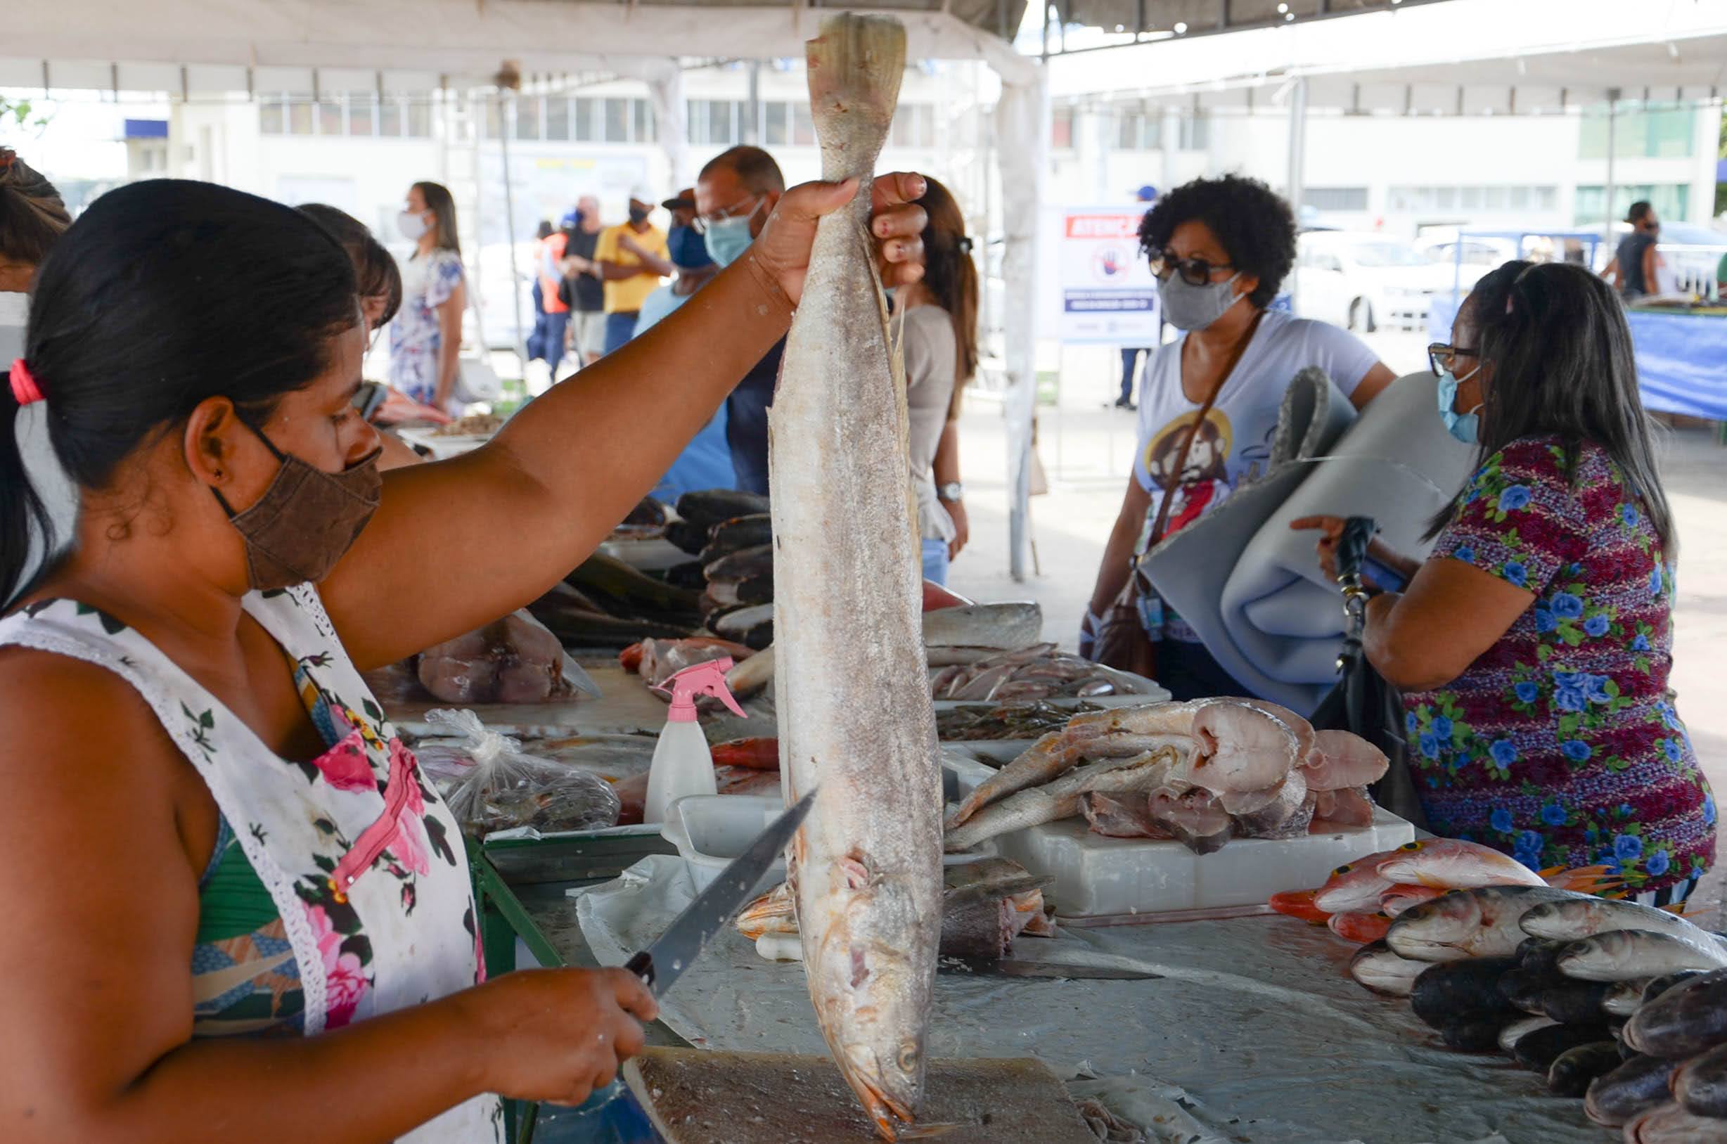
[[[390,323],[390,385],[420,404],[461,413],[461,309],[468,285],[456,240],[456,199],[439,183],[414,183],[395,225],[414,244],[402,275],[402,309]]]

